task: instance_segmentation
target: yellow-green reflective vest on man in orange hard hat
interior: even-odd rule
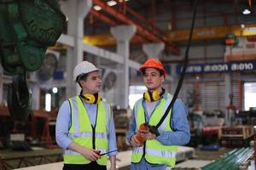
[[[157,123],[160,122],[171,100],[171,94],[166,94],[165,97],[160,100],[160,104],[157,105],[150,117],[149,125],[156,126]],[[142,102],[143,99],[138,100],[134,109],[137,130],[140,124],[144,123],[146,120]],[[160,125],[159,130],[172,132],[172,128],[170,127],[171,115],[172,109],[168,113],[168,116],[166,116],[165,121]],[[138,163],[142,160],[143,156],[149,163],[165,164],[168,167],[174,167],[177,156],[177,145],[164,145],[156,139],[146,140],[143,146],[136,147],[132,150],[131,162]]]

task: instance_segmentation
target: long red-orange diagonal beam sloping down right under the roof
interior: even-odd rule
[[[158,35],[154,34],[154,32],[149,31],[147,28],[144,28],[143,26],[140,26],[139,24],[137,24],[137,22],[125,16],[125,14],[122,14],[118,10],[109,7],[108,4],[105,2],[102,2],[102,0],[93,0],[93,3],[95,5],[100,6],[102,10],[105,10],[106,12],[108,12],[108,14],[113,15],[113,17],[122,21],[123,23],[129,24],[129,25],[135,25],[137,27],[137,31],[140,34],[142,34],[143,37],[148,38],[152,42],[164,42],[166,44],[166,48],[170,49],[173,54],[180,54],[179,49],[173,44],[166,42],[164,37],[159,37]]]

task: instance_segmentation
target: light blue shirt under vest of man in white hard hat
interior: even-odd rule
[[[85,106],[85,109],[90,117],[90,124],[95,125],[96,123],[96,104],[85,104],[84,99],[83,103]],[[98,117],[100,118],[100,117]],[[63,148],[64,150],[67,150],[67,147],[69,144],[71,144],[73,141],[72,139],[68,138],[68,129],[71,126],[71,110],[70,105],[68,101],[64,101],[61,105],[61,108],[59,110],[57,121],[56,121],[56,127],[55,127],[55,137],[56,142]],[[113,113],[111,114],[110,123],[109,123],[109,133],[108,133],[108,151],[111,150],[117,150],[116,145],[116,136],[115,136],[115,129],[114,129],[114,123],[113,123]],[[117,151],[111,152],[108,154],[108,156],[115,156],[117,155]]]

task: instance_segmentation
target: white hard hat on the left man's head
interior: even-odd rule
[[[79,65],[76,65],[76,67],[73,70],[73,81],[76,82],[76,79],[81,74],[87,74],[92,71],[98,71],[99,69],[96,68],[95,65],[91,64],[88,61],[82,61],[79,63]]]

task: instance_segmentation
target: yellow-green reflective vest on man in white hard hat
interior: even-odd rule
[[[93,130],[90,123],[90,117],[84,107],[79,95],[69,99],[71,106],[71,127],[68,131],[68,137],[74,143],[86,148],[93,148]],[[97,105],[95,142],[96,150],[101,153],[108,152],[108,127],[111,117],[110,106],[101,101]],[[86,122],[86,123],[84,123]],[[90,160],[84,158],[79,152],[73,150],[64,150],[64,163],[67,164],[88,164]],[[108,157],[101,156],[97,163],[103,166],[107,165]]]

